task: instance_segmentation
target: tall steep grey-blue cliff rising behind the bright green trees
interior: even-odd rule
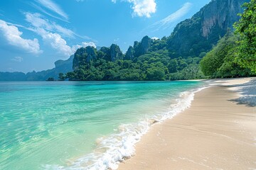
[[[169,51],[175,57],[207,52],[239,20],[241,5],[249,0],[213,0],[192,18],[178,23],[169,37]]]

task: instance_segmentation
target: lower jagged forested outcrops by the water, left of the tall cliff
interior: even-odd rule
[[[134,42],[123,55],[118,45],[80,48],[73,60],[70,80],[169,80],[199,79],[199,57],[171,58],[167,39],[153,40],[148,36]]]

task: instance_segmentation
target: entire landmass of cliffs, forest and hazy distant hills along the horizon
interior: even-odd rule
[[[251,31],[255,30],[255,24],[248,20],[253,18],[250,11],[255,1],[247,2],[210,1],[192,18],[178,23],[169,37],[145,36],[140,42],[135,41],[125,54],[116,44],[97,49],[81,47],[68,60],[55,62],[54,69],[28,74],[0,72],[0,80],[164,81],[253,77],[256,35]]]

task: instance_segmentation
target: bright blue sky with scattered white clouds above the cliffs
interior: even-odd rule
[[[210,0],[0,1],[0,72],[52,69],[79,47],[126,52],[145,35],[171,35]]]

